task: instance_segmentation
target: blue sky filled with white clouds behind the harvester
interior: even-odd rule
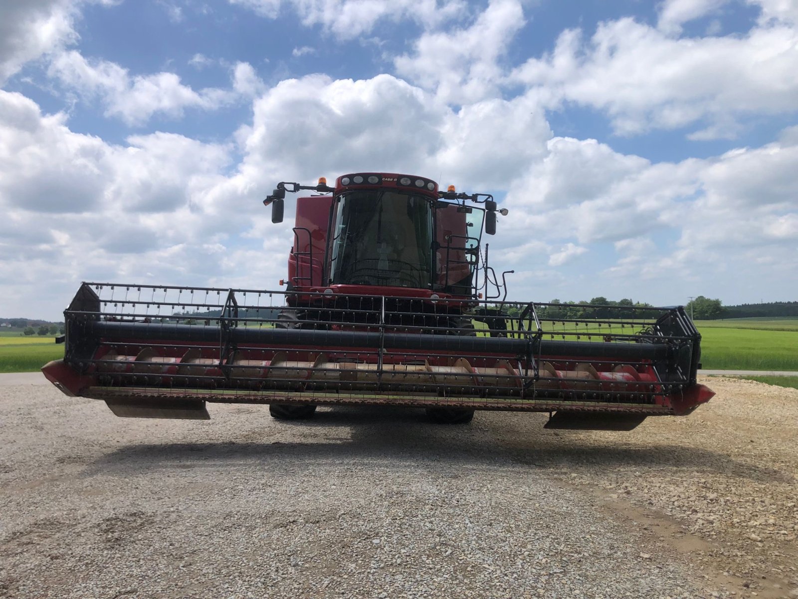
[[[3,2],[0,316],[275,288],[263,196],[358,170],[494,193],[511,299],[796,300],[796,28],[795,0]]]

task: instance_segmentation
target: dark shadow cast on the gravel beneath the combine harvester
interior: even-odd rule
[[[501,417],[499,417],[501,418]],[[413,467],[420,462],[444,462],[449,466],[509,466],[535,470],[563,467],[623,469],[667,467],[695,474],[733,473],[737,477],[772,481],[784,478],[776,470],[737,462],[728,456],[697,447],[637,440],[617,433],[537,429],[539,415],[519,415],[475,420],[472,426],[440,426],[425,421],[421,410],[379,407],[346,407],[320,411],[315,419],[271,422],[255,430],[242,430],[224,442],[136,443],[120,446],[95,460],[83,476],[94,474],[147,474],[153,469],[194,469],[251,466],[259,463],[272,471],[298,465],[332,461],[392,462],[393,467]],[[340,426],[348,435],[335,434]],[[301,434],[328,429],[318,438]],[[296,430],[296,441],[286,440],[286,430]],[[275,433],[279,431],[279,437]],[[534,436],[532,436],[534,434]],[[274,440],[269,440],[270,437]],[[164,437],[165,438],[165,437]],[[257,439],[257,440],[255,440]]]

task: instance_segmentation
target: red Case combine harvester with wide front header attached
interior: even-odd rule
[[[118,416],[207,419],[207,402],[268,403],[298,419],[318,405],[544,411],[550,428],[630,430],[686,415],[701,336],[681,307],[506,301],[481,234],[492,196],[439,192],[424,177],[354,173],[299,197],[285,291],[84,283],[65,311],[65,357],[42,370],[67,395]],[[509,271],[512,272],[512,271]],[[282,283],[282,282],[281,282]],[[501,298],[501,299],[500,299]]]

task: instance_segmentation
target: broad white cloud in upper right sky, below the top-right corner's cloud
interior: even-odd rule
[[[733,137],[741,117],[798,105],[798,31],[776,23],[743,36],[674,38],[632,18],[599,24],[585,40],[559,35],[555,49],[508,81],[552,107],[574,102],[606,112],[616,133],[709,123],[696,138]]]

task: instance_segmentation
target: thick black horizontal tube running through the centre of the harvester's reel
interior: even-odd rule
[[[220,327],[171,323],[125,323],[87,320],[75,323],[80,341],[105,339],[106,343],[133,340],[218,343],[224,338],[237,344],[263,344],[298,348],[326,349],[330,347],[361,347],[389,350],[465,351],[476,355],[527,355],[530,340],[504,337],[459,335],[424,335],[369,331],[315,331],[267,327]],[[76,339],[77,340],[77,339]],[[381,341],[383,345],[381,345]],[[588,341],[560,341],[531,339],[533,355],[563,357],[595,357],[610,359],[666,359],[669,347],[664,343],[609,343]],[[539,345],[538,345],[539,343]]]

